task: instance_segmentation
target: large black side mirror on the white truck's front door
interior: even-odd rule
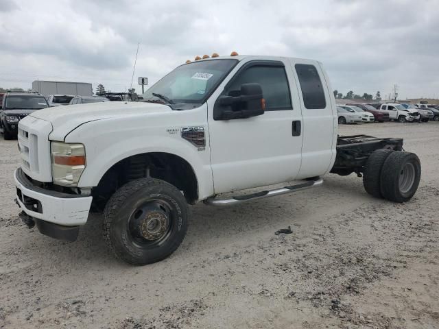
[[[260,84],[242,84],[233,96],[220,96],[213,107],[214,120],[246,119],[261,115],[265,99]]]

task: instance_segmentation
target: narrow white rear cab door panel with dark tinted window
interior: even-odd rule
[[[303,117],[302,167],[298,178],[324,175],[335,161],[337,110],[329,80],[318,62],[291,60]]]

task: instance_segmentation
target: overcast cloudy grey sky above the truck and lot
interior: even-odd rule
[[[195,56],[319,60],[333,89],[439,98],[439,0],[0,0],[0,87],[130,88]]]

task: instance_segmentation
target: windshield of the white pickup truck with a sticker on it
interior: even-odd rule
[[[204,103],[236,63],[237,60],[205,60],[178,66],[146,90],[143,101]]]

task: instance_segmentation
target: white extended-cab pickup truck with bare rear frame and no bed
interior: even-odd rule
[[[66,241],[89,212],[103,211],[112,252],[145,265],[180,245],[195,202],[228,206],[302,191],[329,172],[355,172],[371,195],[408,201],[420,162],[402,145],[337,135],[320,62],[206,58],[178,66],[143,101],[48,108],[21,120],[16,202],[27,226]]]

